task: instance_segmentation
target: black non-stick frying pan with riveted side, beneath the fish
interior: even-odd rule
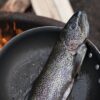
[[[39,27],[9,41],[0,52],[0,100],[27,100],[61,31]],[[100,52],[87,40],[88,51],[68,100],[100,100]]]

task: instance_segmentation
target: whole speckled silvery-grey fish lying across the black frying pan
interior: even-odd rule
[[[88,32],[86,14],[82,11],[75,13],[62,30],[46,66],[35,81],[31,100],[67,99],[79,69],[75,63],[81,61],[77,55],[79,53],[79,58],[84,58],[86,53],[83,42]]]

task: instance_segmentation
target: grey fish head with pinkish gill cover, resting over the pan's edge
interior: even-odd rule
[[[65,25],[60,34],[68,50],[76,50],[87,38],[89,23],[84,11],[76,12]]]

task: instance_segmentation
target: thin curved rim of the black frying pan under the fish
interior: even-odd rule
[[[28,29],[24,32],[22,32],[21,34],[18,34],[16,36],[14,36],[13,38],[11,38],[9,40],[9,42],[0,50],[0,55],[7,49],[9,48],[10,45],[12,45],[14,42],[17,41],[17,39],[27,35],[27,34],[36,34],[34,31],[38,31],[38,30],[61,30],[62,27],[58,27],[58,26],[42,26],[42,27],[36,27],[36,28],[32,28],[32,29]],[[88,47],[94,49],[96,51],[97,54],[100,55],[100,50],[95,46],[95,44],[90,40],[87,39],[86,40],[86,44]]]

